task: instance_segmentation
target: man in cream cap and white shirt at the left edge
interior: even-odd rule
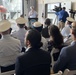
[[[0,21],[0,68],[2,72],[14,70],[15,60],[20,54],[20,41],[10,35],[11,23],[8,20]]]

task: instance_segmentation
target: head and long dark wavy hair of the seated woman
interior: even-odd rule
[[[55,48],[60,48],[63,44],[63,37],[59,31],[59,28],[55,25],[50,26],[51,42]]]

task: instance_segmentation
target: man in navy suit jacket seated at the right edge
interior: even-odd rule
[[[53,67],[55,73],[59,70],[64,71],[66,68],[69,70],[76,70],[76,26],[72,27],[71,36],[73,42],[71,45],[64,47],[61,50],[59,58]]]

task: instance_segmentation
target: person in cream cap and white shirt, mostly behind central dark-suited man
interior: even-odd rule
[[[33,24],[33,28],[38,30],[41,33],[43,25],[40,22],[35,22]],[[41,49],[48,51],[48,41],[43,36],[41,37],[41,42],[43,43],[43,46],[41,47]]]

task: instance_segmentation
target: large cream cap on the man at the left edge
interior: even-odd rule
[[[0,32],[5,32],[11,28],[11,23],[8,20],[0,21]]]

